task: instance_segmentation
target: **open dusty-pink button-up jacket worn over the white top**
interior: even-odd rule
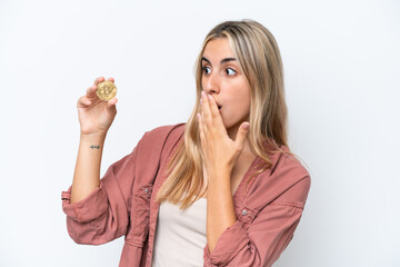
[[[157,191],[166,180],[166,164],[183,140],[184,123],[147,131],[133,151],[112,164],[100,187],[70,204],[62,192],[67,228],[78,244],[99,245],[124,236],[119,266],[151,266],[159,205]],[[287,150],[286,147],[283,149]],[[271,156],[273,167],[234,192],[238,220],[220,236],[203,266],[271,266],[293,237],[310,189],[310,175],[293,157]],[[250,166],[256,169],[259,157]]]

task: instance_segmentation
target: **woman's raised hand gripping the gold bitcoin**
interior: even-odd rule
[[[109,78],[108,80],[114,82],[113,78]],[[116,103],[118,99],[112,98],[108,101],[103,101],[96,93],[97,85],[101,81],[104,81],[104,77],[97,78],[94,83],[88,88],[87,95],[78,99],[77,108],[81,135],[106,136],[116,118]]]

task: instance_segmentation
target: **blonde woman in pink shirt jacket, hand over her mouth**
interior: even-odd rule
[[[300,221],[310,175],[287,145],[273,36],[252,20],[220,23],[196,67],[188,122],[147,131],[101,180],[117,99],[97,98],[101,77],[78,100],[68,231],[92,245],[126,236],[120,266],[271,266]]]

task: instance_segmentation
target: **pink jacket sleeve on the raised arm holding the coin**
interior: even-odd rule
[[[62,192],[68,234],[76,243],[99,245],[127,233],[138,146],[112,164],[100,180],[100,187],[84,199],[71,204],[71,187]]]

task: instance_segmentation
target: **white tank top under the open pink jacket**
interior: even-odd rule
[[[152,267],[203,266],[207,244],[207,199],[186,210],[163,201],[157,218]]]

